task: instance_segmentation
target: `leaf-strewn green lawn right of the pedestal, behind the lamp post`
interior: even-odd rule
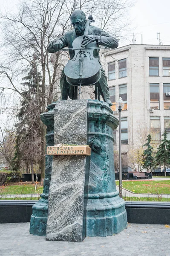
[[[122,181],[122,185],[134,193],[170,194],[170,180]]]

